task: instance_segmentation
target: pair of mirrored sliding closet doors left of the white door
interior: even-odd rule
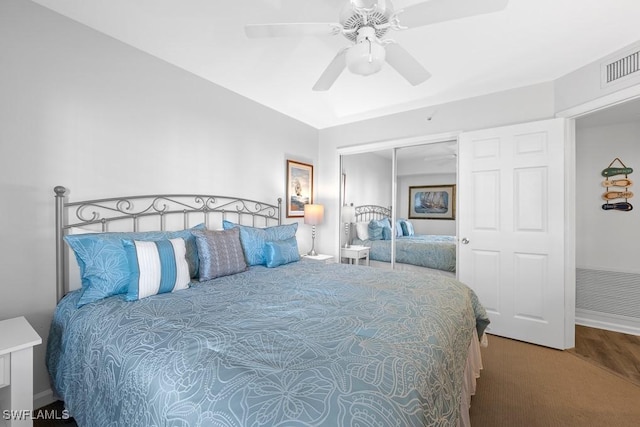
[[[456,154],[446,141],[342,155],[342,262],[366,246],[375,267],[455,275]]]

